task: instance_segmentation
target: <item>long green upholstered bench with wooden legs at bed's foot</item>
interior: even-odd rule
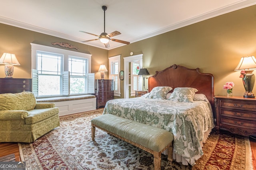
[[[165,149],[168,149],[168,160],[172,162],[173,135],[169,131],[112,114],[100,115],[93,118],[91,122],[93,141],[95,127],[97,127],[153,154],[155,170],[161,169],[161,153]]]

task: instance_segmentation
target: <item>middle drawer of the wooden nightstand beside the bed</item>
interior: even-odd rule
[[[236,119],[248,119],[250,121],[255,120],[256,121],[256,113],[251,112],[243,112],[243,111],[232,111],[232,110],[220,110],[220,116],[221,117],[233,117]]]

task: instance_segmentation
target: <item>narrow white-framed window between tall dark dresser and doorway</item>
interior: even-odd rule
[[[110,79],[114,80],[114,96],[121,96],[120,93],[120,55],[110,57],[109,59],[109,66],[110,66]]]

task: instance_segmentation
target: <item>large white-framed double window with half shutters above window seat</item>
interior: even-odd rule
[[[31,43],[36,97],[94,93],[91,55]]]

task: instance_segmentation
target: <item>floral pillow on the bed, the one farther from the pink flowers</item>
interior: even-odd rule
[[[166,99],[168,92],[172,90],[169,86],[154,87],[151,92],[146,96],[148,99]]]

